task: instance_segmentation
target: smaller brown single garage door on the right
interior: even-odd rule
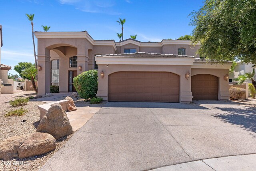
[[[218,77],[198,74],[191,77],[193,100],[218,100]]]

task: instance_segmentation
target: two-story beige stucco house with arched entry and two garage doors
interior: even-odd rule
[[[94,40],[85,32],[35,32],[38,94],[59,85],[75,91],[73,78],[99,72],[97,97],[108,101],[184,102],[229,99],[232,63],[212,64],[196,55],[188,40],[140,42]],[[195,57],[194,57],[195,56]]]

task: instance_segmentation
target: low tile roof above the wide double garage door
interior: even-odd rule
[[[136,52],[130,54],[106,54],[106,55],[97,55],[96,57],[166,57],[166,58],[195,58],[194,56],[188,55],[175,55],[175,54],[154,54],[146,52]]]

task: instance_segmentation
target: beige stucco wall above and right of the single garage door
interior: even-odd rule
[[[224,76],[228,74],[228,69],[196,69],[192,68],[191,76],[197,74],[210,74],[219,78],[219,89],[218,89],[218,99],[228,100],[230,98],[228,81],[224,80]]]

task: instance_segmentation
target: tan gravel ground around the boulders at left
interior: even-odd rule
[[[0,140],[12,136],[26,135],[36,132],[36,127],[39,124],[39,110],[37,109],[37,106],[44,103],[37,101],[38,99],[30,99],[28,104],[24,106],[11,107],[9,104],[10,100],[14,100],[17,97],[29,97],[31,95],[36,96],[36,93],[34,93],[34,91],[15,91],[14,94],[0,94],[0,106],[2,109],[0,111]],[[19,109],[21,107],[28,109],[28,113],[23,116],[4,116],[7,111],[10,111],[11,109]],[[14,158],[10,161],[0,160],[0,171],[38,170],[54,153],[56,153],[56,151],[65,145],[66,141],[68,141],[74,133],[75,132],[71,135],[58,139],[56,149],[44,155],[25,159]]]

